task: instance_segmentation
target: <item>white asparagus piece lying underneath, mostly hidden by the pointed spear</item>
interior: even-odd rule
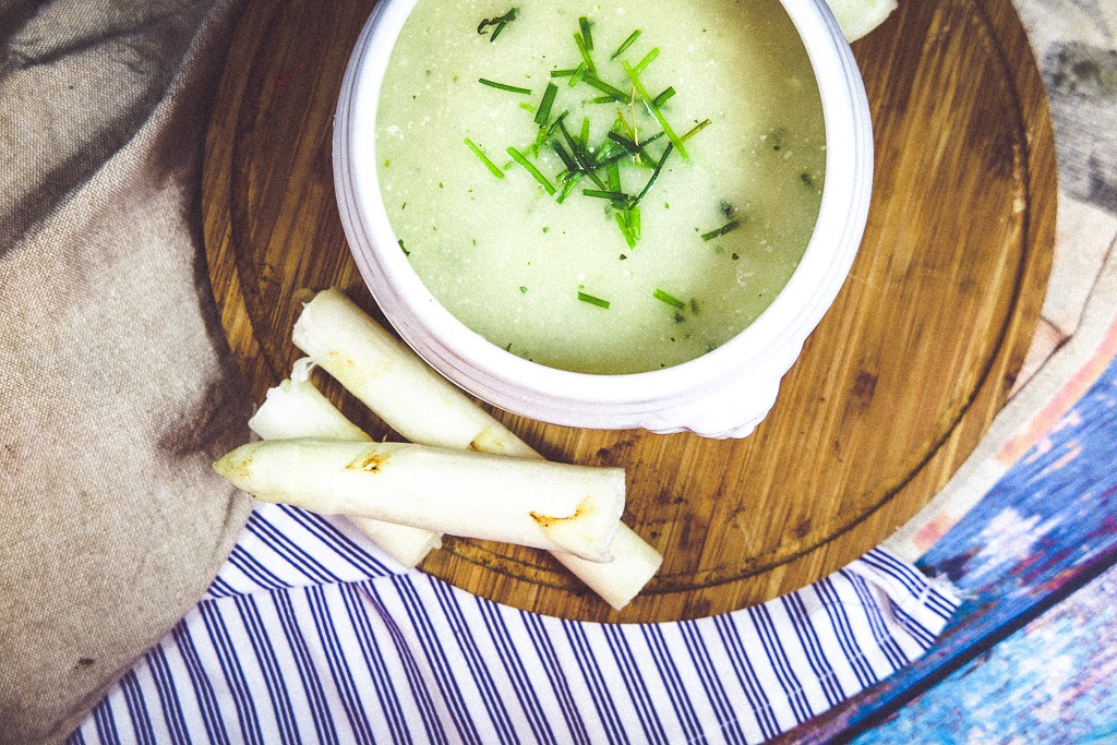
[[[311,382],[308,357],[297,361],[290,379],[268,389],[267,397],[248,427],[265,440],[314,437],[327,440],[371,442],[364,430],[330,403]],[[405,569],[417,566],[433,548],[442,545],[440,533],[410,525],[397,525],[367,517],[349,516],[359,531]]]

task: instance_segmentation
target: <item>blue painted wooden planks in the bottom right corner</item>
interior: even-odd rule
[[[1117,362],[919,562],[965,596],[939,643],[783,739],[1117,742],[1115,564]]]

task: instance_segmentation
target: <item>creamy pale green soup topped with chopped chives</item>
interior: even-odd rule
[[[420,0],[378,172],[401,249],[494,344],[579,372],[697,357],[818,217],[822,108],[776,0]]]

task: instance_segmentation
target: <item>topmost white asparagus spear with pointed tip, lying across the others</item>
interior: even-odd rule
[[[410,442],[262,440],[213,465],[265,502],[611,561],[624,471]]]

